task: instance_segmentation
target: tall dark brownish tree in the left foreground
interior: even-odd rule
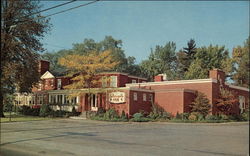
[[[29,92],[39,80],[37,52],[43,51],[40,39],[50,28],[40,13],[33,14],[40,8],[37,1],[1,0],[1,117],[5,94]]]

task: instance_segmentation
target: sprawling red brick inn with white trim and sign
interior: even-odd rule
[[[209,72],[208,79],[167,81],[164,74],[155,76],[154,82],[147,82],[145,78],[131,76],[120,72],[100,73],[101,78],[109,77],[99,86],[92,88],[95,93],[88,94],[86,88],[67,90],[64,87],[70,83],[71,77],[57,76],[49,71],[49,62],[41,61],[39,65],[41,80],[29,95],[28,105],[54,104],[54,109],[78,111],[97,111],[99,108],[114,108],[118,113],[124,111],[128,116],[140,110],[151,111],[152,103],[162,107],[165,111],[175,115],[190,112],[190,104],[194,101],[196,92],[204,93],[210,101],[211,113],[218,112],[215,99],[221,88],[226,88],[239,98],[234,103],[230,114],[239,114],[249,105],[249,89],[225,83],[225,73],[214,69]],[[79,92],[79,96],[67,98],[72,92]],[[23,95],[17,96],[17,99]],[[27,96],[27,95],[26,95]],[[88,97],[90,97],[88,101]]]

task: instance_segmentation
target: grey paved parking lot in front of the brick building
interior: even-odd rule
[[[249,123],[115,123],[59,119],[1,124],[0,155],[246,156]]]

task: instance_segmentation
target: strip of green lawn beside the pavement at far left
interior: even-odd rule
[[[39,117],[39,116],[25,116],[16,113],[11,113],[11,121],[10,121],[10,114],[8,112],[4,113],[5,118],[0,118],[1,123],[6,122],[20,122],[20,121],[39,121],[39,120],[51,120],[52,118],[48,117]]]

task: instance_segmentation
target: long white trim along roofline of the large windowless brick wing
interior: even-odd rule
[[[172,85],[172,84],[189,84],[189,83],[217,83],[216,79],[195,79],[195,80],[179,80],[179,81],[161,81],[161,82],[146,82],[146,83],[127,83],[126,87],[134,87],[134,86],[156,86],[156,85]]]

